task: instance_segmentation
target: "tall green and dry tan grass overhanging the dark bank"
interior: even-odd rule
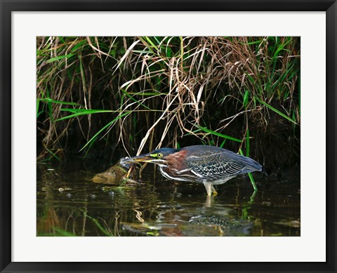
[[[300,38],[38,37],[37,130],[39,160],[204,143],[299,162]]]

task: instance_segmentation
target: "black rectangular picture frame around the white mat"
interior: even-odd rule
[[[1,8],[1,272],[336,272],[336,1],[129,0],[5,1]],[[12,262],[11,12],[13,11],[325,11],[326,262]],[[315,37],[313,37],[315,39]],[[314,67],[315,69],[315,67]],[[313,154],[315,158],[315,154]],[[318,181],[317,181],[318,182]],[[319,181],[320,183],[324,181]],[[315,247],[315,246],[313,246]],[[238,254],[239,255],[239,254]]]

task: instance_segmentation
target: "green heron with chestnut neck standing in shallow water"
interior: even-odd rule
[[[157,164],[165,178],[203,183],[209,196],[212,192],[217,194],[213,185],[223,184],[243,173],[263,171],[263,166],[249,157],[206,145],[155,149],[148,154],[126,158],[124,162]]]

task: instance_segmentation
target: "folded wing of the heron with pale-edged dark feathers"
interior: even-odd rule
[[[246,164],[231,159],[224,152],[203,157],[187,157],[187,165],[191,168],[192,173],[207,180],[218,180],[246,173]]]

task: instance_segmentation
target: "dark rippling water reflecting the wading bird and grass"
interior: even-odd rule
[[[164,180],[147,166],[138,182],[94,183],[109,166],[83,161],[37,168],[38,236],[300,236],[299,171],[204,185]]]

